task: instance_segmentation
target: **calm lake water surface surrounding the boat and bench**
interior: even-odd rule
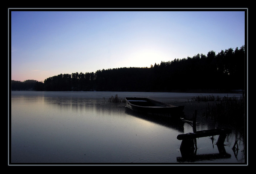
[[[220,155],[218,135],[197,139],[196,158],[181,155],[179,134],[193,132],[189,123],[174,123],[134,113],[125,103],[110,103],[108,98],[148,97],[171,104],[185,105],[185,116],[200,107],[189,103],[195,93],[162,92],[45,92],[12,91],[10,113],[10,164],[244,164],[244,143],[232,147],[242,133],[227,135]],[[212,95],[212,94],[202,94]],[[227,94],[213,94],[219,97]],[[229,94],[229,96],[240,94]],[[191,110],[188,110],[191,108]],[[199,115],[198,115],[199,117]],[[230,128],[199,121],[198,130]]]

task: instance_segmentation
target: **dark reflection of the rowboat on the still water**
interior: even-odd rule
[[[159,115],[149,115],[146,113],[139,113],[127,107],[125,107],[125,113],[133,117],[141,118],[143,120],[160,124],[161,126],[169,127],[181,133],[184,133],[184,122],[180,119],[172,119],[171,117],[161,117]]]

